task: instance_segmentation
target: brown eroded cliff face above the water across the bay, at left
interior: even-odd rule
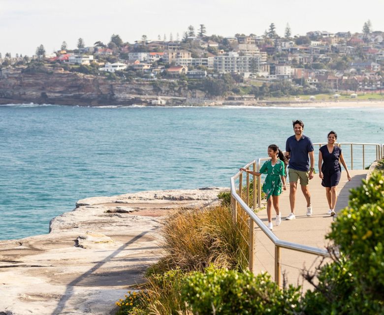
[[[37,103],[80,106],[150,105],[158,96],[166,105],[180,105],[201,91],[169,81],[119,82],[104,77],[55,69],[50,73],[23,73],[20,68],[0,71],[0,104]]]

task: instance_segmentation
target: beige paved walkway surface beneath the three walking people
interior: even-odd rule
[[[338,185],[338,199],[336,203],[337,213],[348,206],[349,190],[360,186],[361,180],[365,179],[367,170],[350,171],[351,182],[347,180],[347,174],[342,172],[341,180]],[[330,231],[331,222],[335,217],[327,215],[329,210],[325,197],[325,188],[321,186],[318,174],[310,181],[309,190],[311,193],[311,203],[313,207],[313,215],[307,217],[307,203],[301,192],[300,186],[296,191],[296,219],[287,221],[285,218],[290,213],[289,206],[289,185],[287,190],[280,196],[280,211],[282,213],[282,223],[275,226],[275,212],[272,209],[273,233],[280,239],[289,242],[304,244],[313,247],[325,248],[328,240],[325,235]],[[266,209],[261,210],[257,214],[259,218],[268,223]],[[274,257],[275,249],[272,241],[256,227],[256,273],[267,271],[274,278]],[[316,255],[281,249],[281,272],[286,278],[288,284],[300,284],[304,289],[311,289],[312,285],[303,281],[301,277],[302,269],[315,270],[319,264],[321,257]],[[283,279],[283,277],[281,278]],[[282,281],[283,283],[283,281]]]

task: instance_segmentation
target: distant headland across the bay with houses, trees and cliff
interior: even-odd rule
[[[80,104],[127,104],[140,95],[185,99],[265,99],[289,95],[382,94],[384,32],[326,31],[285,37],[186,35],[182,40],[125,43],[113,34],[77,49],[36,55],[0,55],[0,102],[7,100]],[[204,32],[203,32],[204,31]],[[9,81],[9,82],[8,82]],[[40,82],[40,83],[39,83]],[[133,98],[132,98],[133,97]],[[137,101],[135,99],[134,101]],[[159,101],[160,102],[160,101]],[[161,102],[160,102],[161,103]]]

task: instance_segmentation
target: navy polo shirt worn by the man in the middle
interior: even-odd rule
[[[296,171],[309,171],[309,152],[312,152],[313,143],[310,138],[302,135],[300,140],[297,141],[296,137],[290,136],[287,139],[286,151],[289,152],[289,165],[288,168]]]

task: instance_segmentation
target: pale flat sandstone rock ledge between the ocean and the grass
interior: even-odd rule
[[[0,315],[107,315],[161,256],[160,220],[218,202],[224,188],[79,200],[50,233],[0,241]]]

